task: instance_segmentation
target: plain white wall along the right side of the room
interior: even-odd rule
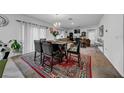
[[[104,54],[122,76],[124,76],[123,23],[122,14],[106,14],[100,22],[100,25],[104,25],[105,28]]]

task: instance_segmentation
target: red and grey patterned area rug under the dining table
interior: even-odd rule
[[[24,54],[21,58],[43,78],[92,78],[91,57],[88,55],[81,55],[80,66],[74,55],[70,56],[68,61],[63,58],[61,63],[54,60],[52,72],[49,66],[41,66],[40,58],[34,61],[33,52]],[[45,62],[49,63],[49,58],[46,59]]]

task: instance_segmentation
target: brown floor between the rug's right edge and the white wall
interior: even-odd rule
[[[96,48],[82,48],[82,53],[91,56],[93,78],[121,78],[104,54]]]

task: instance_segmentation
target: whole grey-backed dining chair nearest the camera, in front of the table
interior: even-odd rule
[[[56,45],[54,44],[51,44],[49,42],[43,42],[42,43],[42,49],[43,49],[43,64],[42,66],[44,66],[45,63],[45,58],[46,57],[49,57],[50,58],[50,68],[51,68],[51,71],[53,69],[53,60],[56,59],[56,60],[59,60],[59,63],[61,62],[61,58],[62,58],[62,53],[55,49],[55,47],[57,47]],[[48,64],[46,64],[48,65]]]

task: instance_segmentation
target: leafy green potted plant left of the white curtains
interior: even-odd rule
[[[9,43],[11,43],[11,49],[13,50],[13,52],[21,52],[21,42],[17,41],[17,40],[10,40]]]

